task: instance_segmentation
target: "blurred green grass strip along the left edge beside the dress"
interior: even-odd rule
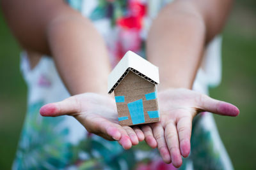
[[[26,111],[20,48],[0,13],[0,169],[10,169]]]

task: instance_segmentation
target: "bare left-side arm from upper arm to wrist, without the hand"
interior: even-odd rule
[[[72,95],[106,94],[108,53],[90,20],[60,0],[6,0],[1,6],[20,45],[51,55]]]

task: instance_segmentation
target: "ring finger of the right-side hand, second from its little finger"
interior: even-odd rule
[[[157,141],[157,148],[159,150],[161,157],[163,158],[166,164],[170,164],[172,162],[172,159],[164,139],[163,127],[160,124],[154,124],[152,129],[153,129],[154,138]]]

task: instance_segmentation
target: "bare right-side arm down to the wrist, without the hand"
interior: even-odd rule
[[[160,89],[191,89],[205,45],[223,27],[223,18],[201,8],[202,4],[195,1],[175,1],[154,20],[148,34],[147,56],[159,66]],[[226,16],[228,10],[221,9],[220,13]],[[214,23],[211,27],[209,18]]]

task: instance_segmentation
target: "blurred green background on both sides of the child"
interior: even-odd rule
[[[0,11],[0,169],[10,169],[26,112],[20,47]],[[234,4],[223,31],[223,80],[211,96],[240,109],[236,118],[215,116],[235,169],[256,169],[256,1]]]

